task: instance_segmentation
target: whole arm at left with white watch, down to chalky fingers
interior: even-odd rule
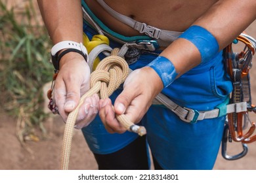
[[[53,44],[63,44],[62,41],[83,42],[83,14],[81,1],[78,0],[37,0],[45,26]],[[58,45],[60,45],[58,44]],[[75,46],[78,44],[74,44]],[[85,48],[79,44],[81,52],[70,49],[68,45],[54,50],[54,55],[64,53],[61,59],[55,59],[55,69],[58,71],[53,90],[54,105],[64,121],[68,114],[79,104],[81,95],[90,88],[90,69],[85,58]],[[76,47],[78,48],[78,47]],[[82,49],[83,48],[83,49]],[[53,50],[53,49],[52,49]],[[68,50],[70,52],[64,52]],[[83,50],[83,51],[82,51]],[[59,61],[59,63],[58,63]],[[88,97],[79,107],[75,128],[88,125],[96,116],[98,96]]]

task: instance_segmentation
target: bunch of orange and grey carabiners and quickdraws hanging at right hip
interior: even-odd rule
[[[232,44],[243,43],[244,50],[240,53],[233,52]],[[251,104],[251,86],[249,70],[252,67],[253,55],[255,54],[256,41],[249,35],[242,33],[237,39],[224,49],[224,61],[226,61],[226,71],[233,82],[233,91],[230,95],[230,103],[247,103],[247,111],[233,112],[227,114],[222,141],[222,156],[224,159],[235,160],[247,154],[247,143],[256,141],[255,122],[251,122],[248,112],[255,112],[255,105]],[[247,132],[244,131],[251,124]],[[235,156],[226,154],[226,142],[242,142],[243,151]]]

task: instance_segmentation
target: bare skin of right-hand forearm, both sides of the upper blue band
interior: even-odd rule
[[[218,1],[193,25],[207,29],[217,40],[219,50],[232,42],[256,18],[256,1]],[[201,63],[198,48],[186,39],[177,39],[161,56],[170,59],[179,75]]]

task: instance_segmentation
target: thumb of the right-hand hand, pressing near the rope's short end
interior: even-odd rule
[[[134,99],[134,93],[129,90],[123,89],[123,92],[121,92],[118,97],[116,98],[116,101],[114,103],[114,108],[116,114],[124,114],[125,110],[129,105],[131,104],[131,101]]]

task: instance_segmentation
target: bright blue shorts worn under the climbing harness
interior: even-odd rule
[[[88,25],[84,31],[91,39],[96,33]],[[110,40],[110,46],[120,47]],[[129,65],[133,70],[154,60],[160,51],[140,55]],[[110,98],[120,93],[117,90]],[[182,107],[196,110],[212,110],[224,102],[232,92],[232,82],[225,72],[222,52],[205,64],[198,65],[164,88],[162,93]],[[161,105],[152,105],[142,119],[147,130],[147,140],[152,155],[163,169],[212,169],[217,158],[223,135],[225,116],[188,124]],[[138,136],[135,133],[110,134],[97,116],[88,127],[82,129],[92,152],[110,154],[127,146]]]

